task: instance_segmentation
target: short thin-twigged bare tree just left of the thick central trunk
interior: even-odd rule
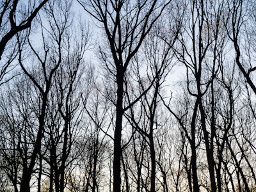
[[[81,153],[81,170],[86,174],[86,183],[83,186],[84,191],[95,192],[100,191],[102,185],[104,185],[104,188],[108,185],[104,184],[106,178],[106,173],[104,172],[107,168],[108,150],[111,147],[110,143],[113,138],[109,138],[106,132],[113,124],[111,122],[112,115],[109,116],[109,108],[111,108],[109,100],[100,92],[97,78],[93,77],[93,73],[90,75],[94,79],[92,89],[88,94],[88,98],[83,99],[88,125],[84,141],[81,141],[84,145],[84,151]]]

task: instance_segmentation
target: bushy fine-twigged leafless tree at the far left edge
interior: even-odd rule
[[[22,172],[36,140],[32,133],[38,128],[36,116],[40,103],[36,103],[35,87],[24,76],[7,87],[9,91],[1,98],[1,167],[12,182],[13,191],[19,191]]]

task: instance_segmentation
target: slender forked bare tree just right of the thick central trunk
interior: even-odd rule
[[[148,191],[157,191],[159,188],[159,180],[157,180],[157,159],[160,157],[157,156],[156,135],[157,132],[161,132],[159,130],[162,130],[164,126],[166,126],[164,118],[160,117],[161,97],[159,97],[159,94],[161,94],[161,90],[163,89],[166,76],[168,76],[173,67],[172,47],[177,40],[180,24],[182,23],[179,16],[172,18],[168,15],[168,12],[166,12],[165,16],[166,17],[163,17],[163,19],[169,18],[174,21],[164,24],[163,20],[159,19],[159,22],[153,26],[152,31],[150,31],[147,38],[145,38],[145,42],[143,42],[143,51],[139,52],[136,56],[136,60],[134,60],[134,63],[136,63],[134,68],[132,68],[134,73],[132,79],[134,79],[134,81],[125,81],[125,97],[130,104],[131,101],[134,100],[132,97],[136,97],[136,94],[143,94],[138,104],[134,105],[134,107],[132,106],[129,113],[125,113],[125,116],[130,119],[129,122],[132,127],[134,127],[134,130],[140,132],[141,137],[146,142],[146,147],[148,146],[149,148],[148,156],[150,156],[150,161],[149,159],[145,159],[145,161],[150,162],[148,166],[150,170],[147,170],[148,175],[150,175],[150,190],[146,187]],[[169,31],[170,33],[166,35],[166,31],[164,30],[170,28],[172,28],[172,31]],[[140,70],[140,68],[144,67],[144,65],[140,63],[143,59],[145,63],[143,64],[147,70]],[[140,88],[140,90],[138,90],[139,93],[135,92],[135,84],[138,84]],[[150,90],[147,91],[146,89],[149,87]],[[140,112],[137,114],[135,111]],[[132,132],[132,134],[134,134],[134,132]],[[139,159],[141,158],[139,157]],[[164,177],[165,172],[163,166],[160,165],[159,168]],[[138,175],[138,177],[140,177],[140,175]]]

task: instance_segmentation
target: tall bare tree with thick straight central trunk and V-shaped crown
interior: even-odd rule
[[[111,52],[111,57],[106,58],[106,51],[100,48],[104,64],[115,77],[116,83],[113,191],[118,192],[121,186],[122,121],[125,109],[130,107],[124,107],[125,72],[132,57],[140,49],[145,36],[170,1],[121,0],[79,1],[79,3],[104,29],[108,39],[108,51]]]

